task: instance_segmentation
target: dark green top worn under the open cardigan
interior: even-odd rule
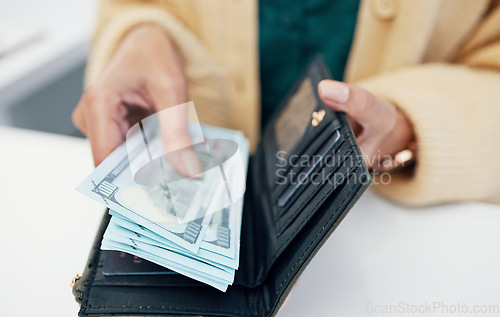
[[[317,54],[342,80],[359,0],[259,0],[262,123]]]

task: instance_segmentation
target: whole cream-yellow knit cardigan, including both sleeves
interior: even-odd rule
[[[181,52],[200,120],[255,147],[257,22],[256,0],[101,0],[86,83],[132,27],[156,24]],[[417,136],[414,172],[377,191],[409,205],[500,202],[500,1],[362,0],[346,80],[397,104]]]

